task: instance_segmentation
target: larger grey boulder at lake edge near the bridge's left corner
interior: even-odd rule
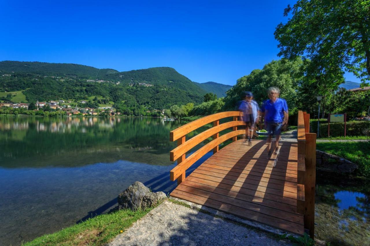
[[[118,195],[118,209],[129,208],[133,211],[141,209],[142,199],[148,193],[151,192],[143,183],[134,182],[134,184]]]

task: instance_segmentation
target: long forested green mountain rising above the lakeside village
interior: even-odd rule
[[[78,64],[2,61],[0,71],[4,75],[0,93],[21,91],[28,102],[96,96],[122,110],[136,111],[135,115],[174,104],[201,103],[208,92],[168,67],[118,72]]]

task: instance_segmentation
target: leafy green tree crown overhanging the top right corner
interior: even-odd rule
[[[292,18],[274,33],[279,56],[309,58],[307,71],[316,74],[338,75],[344,69],[363,85],[370,79],[370,0],[299,0],[284,16],[290,12]],[[335,87],[338,81],[325,83]]]

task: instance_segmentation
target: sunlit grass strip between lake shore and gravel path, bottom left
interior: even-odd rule
[[[104,245],[152,209],[135,212],[125,209],[98,215],[58,232],[40,236],[23,245]]]

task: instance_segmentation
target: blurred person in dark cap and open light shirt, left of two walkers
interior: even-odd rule
[[[253,100],[253,94],[250,91],[244,93],[244,100],[240,103],[239,111],[244,113],[243,120],[246,122],[245,142],[252,145],[253,131],[259,120],[260,108],[258,103]]]

